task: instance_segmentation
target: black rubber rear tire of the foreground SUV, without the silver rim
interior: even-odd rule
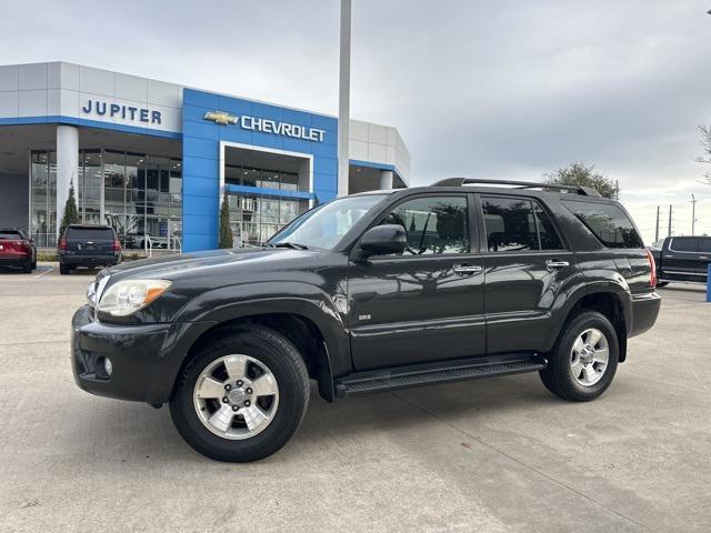
[[[608,364],[599,381],[583,385],[571,370],[573,343],[588,329],[601,331],[608,342]],[[620,359],[620,343],[614,326],[601,313],[584,311],[572,318],[564,326],[555,348],[547,355],[548,366],[539,372],[541,381],[553,394],[573,402],[588,402],[602,394],[614,378]]]

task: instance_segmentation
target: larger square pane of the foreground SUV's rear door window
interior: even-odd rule
[[[538,250],[535,217],[530,200],[481,198],[490,252]]]

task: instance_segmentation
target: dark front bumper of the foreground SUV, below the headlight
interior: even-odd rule
[[[212,323],[106,324],[83,305],[72,318],[71,364],[80,389],[160,405],[168,401],[190,345]],[[110,375],[103,359],[111,361]]]

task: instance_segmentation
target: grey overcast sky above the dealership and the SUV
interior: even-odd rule
[[[399,129],[413,184],[582,160],[653,239],[711,234],[711,0],[353,0],[351,115]],[[0,63],[70,61],[336,114],[338,0],[3,2]],[[665,214],[664,214],[665,220]],[[665,234],[665,222],[662,235]]]

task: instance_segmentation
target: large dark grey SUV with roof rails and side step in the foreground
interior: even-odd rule
[[[332,401],[538,371],[592,400],[657,320],[653,274],[624,209],[585,189],[354,194],[261,248],[100,272],[73,318],[73,372],[94,394],[169,402],[204,455],[253,461],[297,431],[310,379]]]

